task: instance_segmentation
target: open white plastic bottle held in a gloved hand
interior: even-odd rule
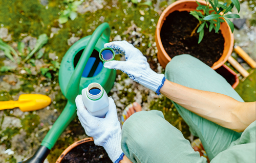
[[[98,83],[82,90],[82,101],[92,116],[104,118],[109,111],[109,97]]]

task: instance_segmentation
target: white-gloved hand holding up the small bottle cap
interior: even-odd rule
[[[127,41],[113,41],[106,43],[104,47],[112,48],[115,54],[124,55],[126,60],[105,62],[105,68],[119,69],[135,82],[153,90],[158,95],[160,94],[160,88],[165,81],[164,74],[158,74],[153,71],[139,49],[135,48]]]

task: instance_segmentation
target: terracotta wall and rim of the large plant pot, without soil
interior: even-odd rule
[[[198,2],[202,5],[206,5],[205,1],[198,0]],[[171,60],[171,58],[167,55],[163,47],[161,37],[160,37],[160,32],[161,32],[161,28],[164,20],[170,13],[174,11],[190,12],[190,11],[196,10],[197,7],[198,7],[198,4],[196,3],[195,0],[179,0],[169,5],[161,14],[157,23],[156,43],[157,43],[157,49],[158,49],[157,58],[163,68],[165,68],[167,63],[170,62]],[[211,68],[214,70],[221,67],[227,61],[228,57],[231,55],[231,52],[233,50],[234,37],[226,21],[221,23],[220,30],[225,40],[224,50],[221,58],[217,62],[215,62],[214,65],[211,66]]]

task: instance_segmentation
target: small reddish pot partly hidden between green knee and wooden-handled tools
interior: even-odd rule
[[[239,84],[238,74],[226,65],[222,65],[220,68],[215,70],[218,74],[223,76],[227,81],[233,80],[232,88],[236,88]]]

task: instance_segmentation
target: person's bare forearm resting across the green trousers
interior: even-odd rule
[[[255,121],[255,102],[239,102],[229,96],[188,88],[169,80],[160,93],[187,110],[223,127],[242,132]]]

